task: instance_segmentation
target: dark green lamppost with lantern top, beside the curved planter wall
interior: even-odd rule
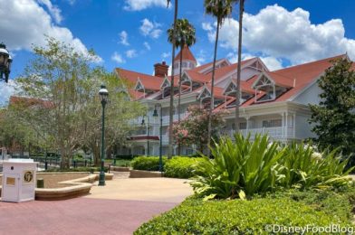
[[[101,171],[99,176],[99,186],[105,186],[105,172],[103,169],[104,158],[105,158],[105,106],[109,99],[109,90],[106,89],[105,85],[101,85],[99,90],[99,95],[101,99],[102,106],[102,126],[101,126]]]

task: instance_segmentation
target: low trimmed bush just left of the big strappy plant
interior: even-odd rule
[[[202,161],[205,161],[205,159],[201,157],[175,156],[164,165],[164,176],[188,179],[196,174],[203,174],[196,172],[196,165]]]

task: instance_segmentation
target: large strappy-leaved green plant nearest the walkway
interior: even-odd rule
[[[197,165],[198,175],[191,183],[196,193],[209,198],[235,198],[254,193],[272,191],[277,181],[277,161],[284,151],[278,145],[269,145],[267,136],[256,135],[254,142],[248,137],[235,135],[235,142],[222,138],[211,148],[214,159]]]

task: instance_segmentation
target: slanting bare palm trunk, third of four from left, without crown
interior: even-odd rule
[[[215,69],[216,69],[216,56],[217,56],[217,45],[218,45],[218,36],[219,36],[219,25],[221,24],[220,17],[217,18],[217,29],[216,29],[216,42],[215,42],[215,54],[213,58],[213,66],[212,66],[212,80],[211,80],[211,107],[208,111],[208,134],[207,134],[207,156],[210,157],[210,149],[211,146],[211,134],[212,134],[212,111],[215,108],[215,98],[214,98],[214,90],[215,90]]]

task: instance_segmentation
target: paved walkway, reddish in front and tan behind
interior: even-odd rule
[[[140,224],[182,202],[186,180],[118,175],[82,198],[0,202],[0,234],[132,234]]]

